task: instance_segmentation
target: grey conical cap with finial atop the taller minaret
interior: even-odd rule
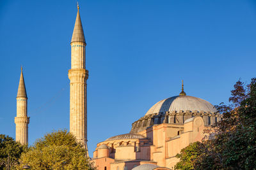
[[[78,4],[77,4],[76,23],[75,23],[75,27],[74,27],[74,31],[73,31],[72,39],[71,39],[71,43],[73,43],[73,42],[85,43],[83,25],[82,25],[80,14],[79,14]]]

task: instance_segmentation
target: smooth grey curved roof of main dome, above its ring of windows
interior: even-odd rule
[[[204,99],[200,99],[198,97],[193,96],[173,96],[168,99],[161,100],[154,104],[147,111],[146,115],[150,115],[152,113],[159,113],[166,111],[204,111],[215,113],[216,109],[214,106],[205,101]]]

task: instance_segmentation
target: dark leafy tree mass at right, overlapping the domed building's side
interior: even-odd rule
[[[255,169],[256,167],[256,78],[249,85],[240,80],[234,85],[230,104],[216,106],[223,115],[208,129],[193,160],[194,169]],[[209,138],[212,137],[212,138]],[[190,150],[183,149],[183,153]],[[180,157],[185,157],[180,153]],[[178,157],[179,155],[177,155]],[[190,155],[193,157],[194,154]],[[188,160],[188,159],[187,159]],[[178,164],[186,164],[180,159]],[[179,167],[180,169],[180,167]]]

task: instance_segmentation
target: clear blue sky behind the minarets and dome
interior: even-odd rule
[[[256,73],[256,1],[79,1],[86,34],[88,148],[127,133],[157,101],[185,92],[227,102]],[[29,145],[69,129],[76,1],[0,2],[0,133],[15,138],[20,64]]]

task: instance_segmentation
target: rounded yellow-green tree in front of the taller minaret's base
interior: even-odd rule
[[[20,162],[31,169],[93,169],[84,146],[66,130],[38,139],[28,152],[22,153]]]

